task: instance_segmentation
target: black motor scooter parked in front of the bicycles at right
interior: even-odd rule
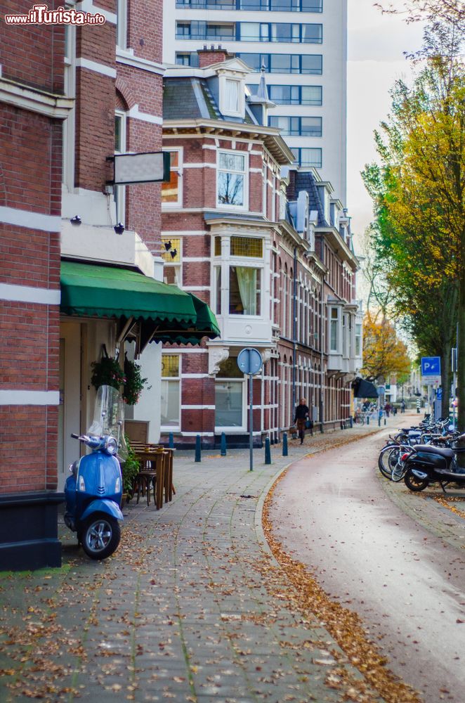
[[[465,439],[462,434],[458,439]],[[410,453],[402,456],[405,467],[404,481],[410,491],[424,491],[433,483],[445,491],[448,484],[465,488],[465,469],[457,465],[456,454],[465,449],[441,449],[431,444],[415,444]]]

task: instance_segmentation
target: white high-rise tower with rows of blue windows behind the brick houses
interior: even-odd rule
[[[165,0],[163,34],[165,63],[221,44],[254,70],[251,91],[264,68],[270,127],[346,202],[347,0]]]

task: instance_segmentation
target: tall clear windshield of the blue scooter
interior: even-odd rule
[[[124,404],[121,392],[112,386],[100,386],[93,410],[93,423],[87,430],[93,437],[114,437],[118,444],[118,456],[127,456],[124,441]]]

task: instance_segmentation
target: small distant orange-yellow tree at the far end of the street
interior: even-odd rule
[[[377,381],[391,374],[402,378],[409,373],[407,347],[398,338],[393,325],[386,318],[377,322],[367,312],[363,321],[362,375],[370,381]]]

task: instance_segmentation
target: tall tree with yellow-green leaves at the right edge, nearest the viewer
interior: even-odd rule
[[[433,27],[427,39],[426,67],[411,88],[395,84],[391,116],[375,136],[381,165],[363,176],[375,203],[376,256],[395,285],[396,309],[419,349],[443,358],[443,411],[459,319],[465,427],[465,72],[453,24]]]

